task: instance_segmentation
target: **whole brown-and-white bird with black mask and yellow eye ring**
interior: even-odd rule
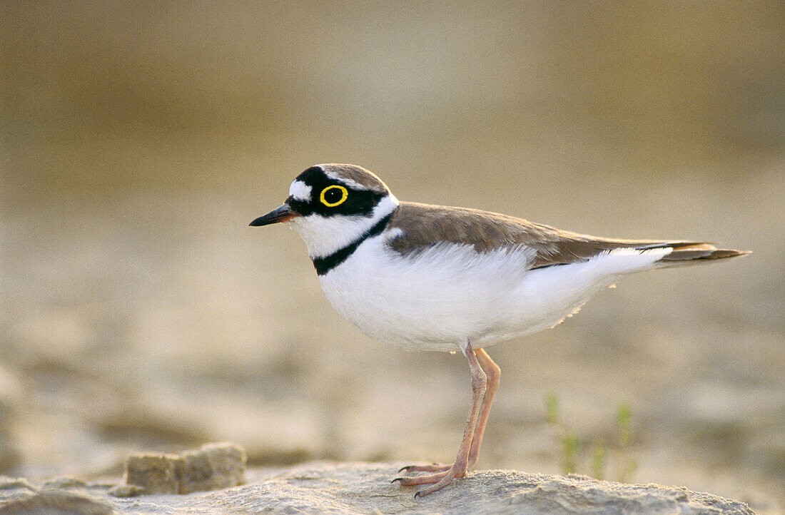
[[[429,495],[476,465],[500,369],[485,349],[556,326],[636,272],[750,254],[711,243],[610,239],[505,214],[400,202],[374,173],[311,166],[251,226],[291,225],[330,305],[368,337],[462,353],[472,402],[455,462],[406,466],[392,482]],[[416,474],[415,473],[425,473]]]

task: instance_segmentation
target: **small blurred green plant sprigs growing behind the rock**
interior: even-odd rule
[[[582,461],[580,459],[582,452],[588,451],[590,453],[590,475],[597,479],[605,479],[605,469],[608,466],[610,451],[615,456],[615,462],[618,462],[615,480],[621,483],[630,480],[637,469],[637,463],[629,452],[632,442],[632,407],[629,402],[623,401],[616,406],[615,439],[610,443],[596,440],[590,446],[581,445],[579,437],[571,432],[562,421],[556,394],[548,393],[546,395],[545,406],[546,422],[556,428],[559,433],[562,473],[577,472],[577,463]]]

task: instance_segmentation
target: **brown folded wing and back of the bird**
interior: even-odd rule
[[[525,245],[536,250],[531,268],[585,261],[617,248],[690,248],[699,254],[714,250],[699,242],[597,238],[504,214],[409,202],[400,203],[388,227],[401,229],[402,234],[390,244],[402,255],[414,255],[442,242],[469,243],[477,252]]]

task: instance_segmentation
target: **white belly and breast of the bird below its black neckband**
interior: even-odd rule
[[[477,349],[553,327],[598,291],[655,268],[672,249],[619,249],[588,261],[528,270],[530,247],[477,253],[444,243],[401,257],[367,239],[319,276],[330,304],[371,338],[411,350]]]

